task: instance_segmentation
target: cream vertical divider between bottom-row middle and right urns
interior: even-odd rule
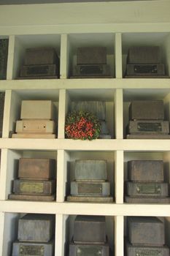
[[[115,256],[124,256],[123,216],[115,217]]]

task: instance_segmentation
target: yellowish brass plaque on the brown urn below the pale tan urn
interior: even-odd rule
[[[22,193],[43,193],[43,183],[38,182],[20,182],[20,192]]]

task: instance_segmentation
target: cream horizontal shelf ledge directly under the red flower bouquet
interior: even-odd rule
[[[170,140],[71,140],[1,138],[0,148],[68,151],[170,151]]]

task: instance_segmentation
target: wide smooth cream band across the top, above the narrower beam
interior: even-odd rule
[[[3,5],[0,24],[7,28],[11,25],[169,23],[169,11],[169,0]]]

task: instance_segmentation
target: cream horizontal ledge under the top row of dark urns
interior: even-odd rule
[[[169,78],[93,78],[0,80],[0,90],[50,89],[170,89]]]

